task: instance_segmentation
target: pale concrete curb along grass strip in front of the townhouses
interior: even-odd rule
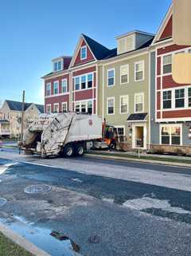
[[[152,163],[152,164],[161,164],[161,165],[170,165],[175,167],[191,167],[190,163],[174,163],[174,162],[167,162],[167,161],[160,161],[160,160],[143,160],[143,159],[135,159],[135,158],[128,158],[128,157],[121,157],[121,156],[102,156],[96,154],[84,154],[84,156],[92,157],[92,158],[99,158],[99,159],[111,159],[111,160],[123,160],[123,161],[131,161],[131,162],[138,162],[138,163]]]

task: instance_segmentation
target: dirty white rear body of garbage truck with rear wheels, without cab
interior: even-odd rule
[[[19,143],[25,153],[83,156],[89,142],[102,140],[102,119],[76,112],[41,114],[29,125]]]

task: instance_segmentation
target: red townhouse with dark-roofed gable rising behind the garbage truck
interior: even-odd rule
[[[110,49],[82,34],[72,57],[53,60],[53,72],[45,75],[46,112],[97,114],[98,62]]]

